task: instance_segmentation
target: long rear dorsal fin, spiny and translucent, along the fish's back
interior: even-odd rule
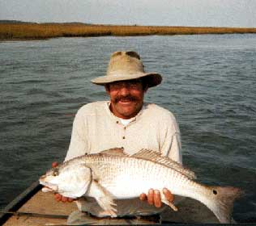
[[[146,160],[156,161],[162,165],[165,165],[173,170],[186,175],[190,179],[195,179],[196,176],[193,171],[184,168],[183,165],[177,163],[177,161],[171,160],[169,157],[163,157],[160,153],[148,149],[141,149],[139,153],[134,153],[131,157],[143,158]]]

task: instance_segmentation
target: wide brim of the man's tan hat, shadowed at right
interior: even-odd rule
[[[148,87],[157,86],[162,82],[162,77],[159,73],[134,73],[134,74],[111,74],[111,76],[100,76],[91,80],[92,83],[100,86],[105,86],[111,82],[125,81],[145,77]]]

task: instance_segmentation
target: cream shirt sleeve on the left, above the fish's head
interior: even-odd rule
[[[71,133],[70,146],[66,153],[65,161],[87,153],[87,128],[86,119],[81,112],[75,115]]]

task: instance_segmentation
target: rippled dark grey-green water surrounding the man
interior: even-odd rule
[[[0,207],[63,161],[75,112],[107,99],[93,77],[135,50],[164,82],[145,101],[173,111],[184,164],[207,184],[241,187],[233,217],[256,222],[256,36],[62,38],[0,43]]]

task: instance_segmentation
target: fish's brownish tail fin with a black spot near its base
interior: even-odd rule
[[[231,223],[233,202],[241,196],[241,190],[233,186],[208,186],[208,189],[210,195],[207,195],[207,198],[210,198],[210,202],[207,202],[207,206],[215,213],[220,223]]]

